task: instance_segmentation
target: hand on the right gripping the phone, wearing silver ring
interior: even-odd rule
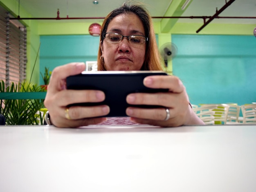
[[[177,127],[181,125],[204,125],[189,105],[189,97],[181,80],[175,76],[148,76],[144,85],[150,88],[168,89],[162,93],[134,93],[126,97],[131,105],[160,105],[163,108],[143,109],[128,107],[126,114],[135,123],[158,125],[162,127]],[[170,117],[166,119],[166,109]]]

